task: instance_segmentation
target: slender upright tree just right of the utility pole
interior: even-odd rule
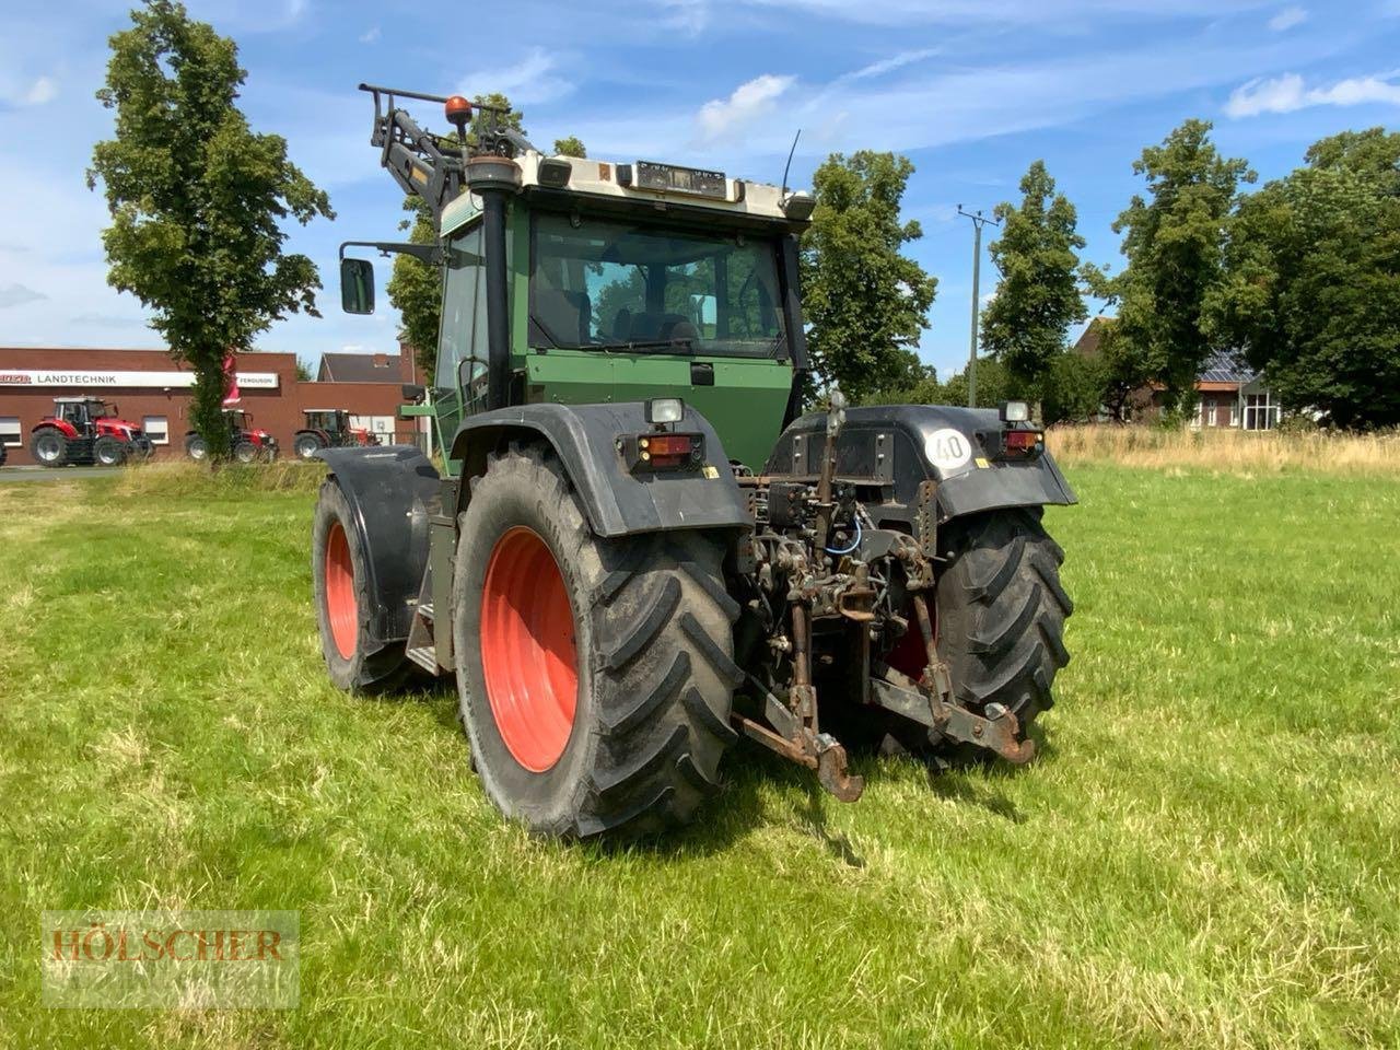
[[[988,252],[1001,281],[983,315],[981,344],[1030,389],[1063,354],[1070,325],[1088,314],[1079,294],[1075,252],[1084,238],[1075,232],[1074,204],[1054,192],[1044,161],[1030,165],[1021,193],[1019,209],[997,204],[1001,237]]]

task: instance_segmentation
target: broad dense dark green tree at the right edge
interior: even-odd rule
[[[1217,336],[1285,409],[1400,424],[1400,133],[1344,132],[1239,207]]]

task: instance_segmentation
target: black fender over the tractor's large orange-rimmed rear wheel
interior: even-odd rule
[[[462,463],[458,510],[470,500],[472,477],[486,473],[487,456],[517,438],[547,442],[584,503],[598,536],[629,536],[668,529],[748,528],[748,503],[710,421],[686,406],[678,433],[704,435],[704,463],[694,469],[633,472],[617,451],[624,435],[652,430],[640,402],[617,405],[519,405],[472,416],[452,440]]]

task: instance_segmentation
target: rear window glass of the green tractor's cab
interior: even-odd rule
[[[538,214],[531,277],[536,346],[787,354],[770,239]]]

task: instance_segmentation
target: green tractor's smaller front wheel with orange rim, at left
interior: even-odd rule
[[[403,643],[379,647],[370,636],[368,552],[340,486],[321,486],[311,525],[311,580],[326,673],[337,689],[382,693],[403,683],[414,665]]]

